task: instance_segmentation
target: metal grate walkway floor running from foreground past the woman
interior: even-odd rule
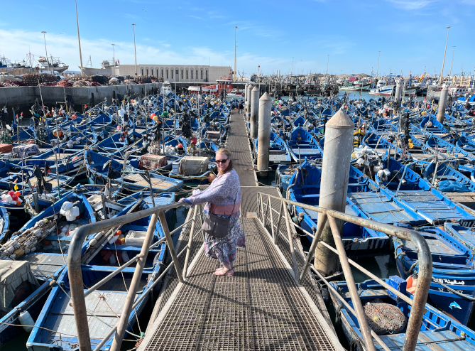
[[[276,247],[260,220],[245,217],[247,212],[258,212],[258,191],[278,191],[254,186],[254,172],[239,171],[242,166],[252,167],[249,146],[245,144],[246,129],[242,135],[239,123],[234,123],[239,119],[244,126],[242,116],[231,115],[235,134],[228,137],[227,146],[241,178],[241,224],[246,249],[238,249],[234,276],[214,276],[218,262],[207,259],[202,248],[198,249],[202,237],[193,240],[192,252],[196,254],[191,257],[194,259],[187,279],[180,284],[175,272],[170,272],[168,286],[155,306],[146,338],[138,350],[343,351],[315,305],[314,296],[310,296],[305,284],[308,279],[304,286],[295,283],[285,244]],[[239,141],[241,151],[236,152],[234,147]],[[185,226],[180,242],[186,243],[188,236]]]

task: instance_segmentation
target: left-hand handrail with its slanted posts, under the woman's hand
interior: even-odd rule
[[[170,231],[168,230],[168,225],[165,220],[164,211],[171,210],[173,208],[180,207],[185,205],[182,202],[174,202],[169,205],[161,205],[157,207],[151,207],[146,210],[141,210],[138,212],[133,212],[129,215],[123,215],[120,217],[114,217],[109,220],[103,220],[100,222],[94,222],[89,225],[84,225],[79,227],[75,234],[73,235],[70,243],[70,249],[67,254],[67,271],[70,281],[70,292],[71,292],[71,299],[72,299],[72,309],[75,315],[75,322],[77,328],[77,340],[79,343],[80,350],[84,351],[91,351],[91,340],[89,337],[89,325],[87,323],[87,311],[86,311],[86,301],[84,296],[84,285],[82,281],[82,271],[81,271],[81,252],[82,252],[82,244],[84,243],[84,239],[86,239],[87,235],[94,234],[97,232],[102,232],[103,230],[110,229],[112,227],[117,227],[118,225],[125,225],[126,223],[130,223],[136,220],[140,220],[141,218],[148,217],[152,215],[152,220],[150,225],[148,226],[147,238],[143,242],[143,246],[141,249],[141,254],[138,256],[138,263],[136,270],[133,274],[132,283],[129,288],[129,293],[126,299],[126,305],[124,306],[124,310],[131,310],[133,299],[135,298],[136,289],[133,288],[133,282],[140,280],[140,276],[143,271],[143,266],[145,264],[145,259],[148,254],[148,249],[150,248],[151,237],[153,237],[153,230],[155,229],[157,217],[160,217],[160,222],[163,227],[163,232],[165,233],[165,239],[168,244],[168,248],[170,249],[170,253],[172,255],[173,264],[175,269],[177,270],[178,279],[180,282],[183,281],[183,277],[181,274],[180,265],[178,264],[178,258],[175,254],[175,247],[173,246],[173,240],[170,235]],[[121,267],[118,267],[120,269]],[[130,298],[129,298],[130,296]],[[117,327],[116,335],[114,336],[114,347],[117,348],[116,345],[121,344],[121,340],[124,338],[125,327],[126,327],[126,320],[129,318],[131,311],[121,313],[121,318],[119,320]],[[117,337],[117,338],[116,338]],[[111,349],[112,350],[112,349]]]

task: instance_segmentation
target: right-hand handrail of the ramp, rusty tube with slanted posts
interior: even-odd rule
[[[359,321],[359,325],[361,328],[361,334],[364,335],[365,339],[365,344],[366,344],[366,350],[374,350],[374,345],[373,345],[373,340],[372,338],[368,338],[369,333],[371,333],[368,329],[368,325],[366,322],[366,317],[364,315],[364,312],[361,309],[357,308],[358,306],[361,306],[361,300],[359,299],[358,294],[356,293],[356,296],[354,295],[354,291],[356,291],[356,286],[354,284],[354,279],[351,274],[351,269],[349,269],[349,264],[351,263],[346,257],[346,252],[344,251],[344,247],[342,245],[342,239],[339,235],[339,229],[337,228],[337,223],[335,222],[335,218],[339,220],[344,220],[346,222],[351,222],[356,225],[360,225],[362,227],[367,227],[370,229],[377,230],[378,232],[383,232],[385,234],[391,235],[393,237],[398,237],[399,239],[405,239],[409,240],[412,242],[416,248],[417,251],[417,258],[419,260],[419,270],[418,270],[418,279],[417,279],[417,284],[415,288],[415,293],[414,293],[414,298],[410,303],[413,307],[411,309],[411,313],[409,316],[409,321],[408,321],[408,327],[406,328],[406,333],[405,333],[405,340],[404,340],[404,346],[403,350],[404,351],[413,351],[415,350],[415,347],[417,345],[417,337],[420,332],[420,327],[422,325],[422,318],[425,314],[425,303],[427,302],[427,296],[429,294],[429,289],[430,289],[430,281],[432,280],[432,256],[430,254],[430,249],[429,246],[427,245],[427,242],[425,239],[422,237],[422,235],[415,230],[403,228],[403,227],[395,227],[393,225],[387,225],[384,223],[376,222],[373,220],[367,220],[365,218],[361,217],[356,217],[353,215],[347,215],[346,213],[338,212],[335,210],[327,210],[322,207],[317,207],[317,206],[312,206],[312,205],[307,205],[304,203],[300,202],[295,202],[292,200],[288,200],[285,198],[280,198],[274,195],[266,194],[266,193],[261,193],[259,192],[257,194],[257,201],[258,201],[258,210],[261,210],[261,215],[262,219],[264,219],[264,213],[263,213],[263,205],[266,205],[266,207],[271,207],[271,201],[268,201],[268,204],[265,204],[265,202],[262,201],[262,196],[266,195],[268,196],[268,200],[270,199],[275,199],[280,201],[280,208],[282,208],[283,204],[289,204],[289,205],[295,205],[297,207],[305,208],[307,210],[312,210],[315,212],[322,213],[322,220],[317,223],[317,231],[315,232],[314,239],[312,241],[312,245],[310,247],[310,250],[307,254],[306,261],[305,261],[305,266],[304,269],[302,270],[302,273],[300,276],[296,275],[295,280],[300,284],[302,279],[304,278],[305,274],[307,273],[307,269],[310,266],[310,260],[312,259],[315,249],[317,248],[317,243],[320,242],[320,234],[323,230],[324,221],[328,220],[330,223],[330,227],[332,229],[332,234],[335,239],[335,244],[337,245],[337,249],[334,249],[333,247],[330,247],[328,244],[324,242],[320,242],[321,244],[324,244],[325,247],[329,247],[332,249],[333,252],[337,252],[339,254],[339,259],[342,262],[342,268],[344,270],[344,275],[345,279],[348,283],[348,288],[350,291],[350,296],[351,296],[351,301],[353,302],[354,309],[356,311],[354,314],[356,315],[356,318]],[[259,208],[261,206],[261,208]],[[272,212],[272,208],[271,211]],[[269,211],[268,211],[269,212]],[[276,212],[276,211],[275,211]],[[285,209],[285,212],[287,210]],[[261,220],[261,218],[258,219]],[[285,218],[286,222],[289,222],[288,217]],[[265,220],[262,220],[263,227],[266,227],[266,222]],[[271,221],[271,227],[274,227],[273,221]],[[297,227],[297,225],[295,225]],[[278,218],[278,225],[276,232],[279,232],[280,228],[280,216]],[[287,223],[287,229],[290,231],[290,225]],[[277,233],[274,233],[273,235],[277,235]],[[275,242],[275,237],[273,237],[274,242]],[[290,247],[293,247],[293,242],[292,242],[292,237],[291,234],[289,234],[289,244]],[[354,263],[354,262],[353,262]],[[360,268],[359,265],[353,264],[356,266],[356,268]],[[366,270],[363,270],[365,274],[369,273]],[[370,275],[370,274],[368,274]],[[324,277],[319,274],[320,278],[324,279]],[[370,275],[372,276],[372,275]],[[376,276],[372,276],[373,278],[377,278]],[[376,279],[377,281],[380,281],[381,279]],[[388,287],[388,284],[383,284],[383,286]],[[400,293],[400,291],[397,291],[393,288],[390,289],[393,293],[395,293],[397,296],[400,298],[403,298],[404,301],[407,302],[408,297],[404,296],[403,293]],[[351,312],[351,311],[350,311]],[[366,330],[368,333],[364,333],[364,326],[366,326]],[[376,340],[379,342],[378,338]],[[383,348],[385,348],[383,346]]]

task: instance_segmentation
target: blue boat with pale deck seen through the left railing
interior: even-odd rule
[[[133,206],[134,204],[129,205],[124,211]],[[143,210],[149,206],[149,202],[143,202],[138,210]],[[125,234],[124,244],[106,244],[100,251],[101,254],[95,255],[89,261],[89,264],[83,264],[82,279],[84,286],[93,286],[109,275],[111,268],[118,266],[119,262],[129,261],[129,259],[139,254],[143,242],[142,234],[147,231],[150,220],[151,216],[123,225],[121,233]],[[158,221],[155,225],[152,244],[163,237],[163,228],[160,221]],[[111,259],[111,257],[114,259]],[[126,328],[129,332],[151,296],[152,284],[155,283],[164,258],[164,243],[151,249],[148,253],[136,293],[136,301],[141,299],[141,302],[129,315]],[[127,289],[131,284],[134,271],[134,267],[124,269],[121,275],[107,281],[97,291],[86,297],[86,305],[89,306],[87,313],[91,315],[88,323],[92,347],[106,337],[112,328],[111,325],[116,325],[119,321],[119,315],[122,312]],[[87,291],[87,288],[85,291]],[[69,277],[67,269],[65,269],[58,278],[57,284],[53,286],[48,300],[45,302],[38,320],[36,320],[35,326],[39,328],[34,328],[28,338],[26,344],[28,350],[58,350],[58,347],[60,347],[60,350],[77,350],[77,332],[72,306],[70,306],[70,296]],[[113,339],[114,334],[111,335],[111,338],[101,350],[109,350]]]

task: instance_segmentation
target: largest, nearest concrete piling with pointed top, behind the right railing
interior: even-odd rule
[[[329,210],[345,212],[346,193],[348,191],[349,166],[353,151],[354,123],[343,109],[327,121],[325,144],[322,163],[322,179],[320,180],[319,206]],[[259,136],[260,137],[260,136]],[[318,215],[318,222],[322,215]],[[340,234],[343,231],[342,220],[336,220]],[[335,247],[332,229],[326,222],[320,239]],[[315,252],[315,268],[323,275],[333,274],[338,270],[338,255],[322,244],[317,244]]]

